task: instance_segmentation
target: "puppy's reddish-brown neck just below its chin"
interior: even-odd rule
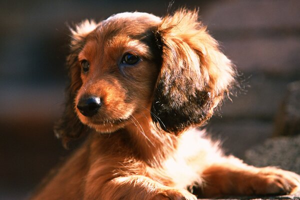
[[[90,137],[90,147],[94,155],[114,151],[117,154],[131,154],[150,166],[159,166],[176,150],[177,136],[155,127],[148,117],[135,117],[123,128],[109,133],[94,132]]]

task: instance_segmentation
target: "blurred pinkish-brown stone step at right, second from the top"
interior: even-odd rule
[[[300,34],[275,39],[232,39],[221,41],[221,45],[242,72],[259,70],[275,75],[300,74]]]

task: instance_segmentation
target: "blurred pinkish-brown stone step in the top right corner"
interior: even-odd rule
[[[214,1],[201,16],[210,29],[299,27],[299,0]]]

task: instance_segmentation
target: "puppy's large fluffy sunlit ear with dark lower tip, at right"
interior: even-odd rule
[[[197,11],[181,9],[163,17],[155,34],[162,60],[151,117],[157,127],[178,134],[212,115],[228,94],[235,70]]]

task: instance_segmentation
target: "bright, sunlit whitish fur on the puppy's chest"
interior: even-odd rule
[[[218,155],[217,148],[202,137],[204,131],[190,130],[179,138],[176,151],[162,162],[162,170],[173,184],[186,188],[201,183],[201,172]]]

